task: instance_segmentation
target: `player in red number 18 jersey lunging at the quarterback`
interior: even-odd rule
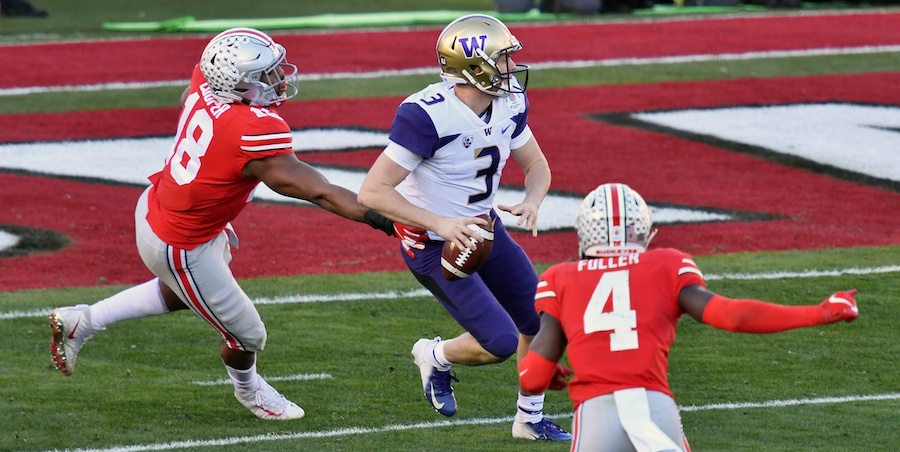
[[[263,182],[389,235],[393,223],[294,155],[291,129],[273,107],[297,94],[296,72],[284,47],[258,30],[234,28],[210,40],[182,95],[171,154],[135,211],[138,251],[157,278],[50,314],[50,353],[63,375],[108,325],[190,308],[222,335],[220,355],[244,406],[263,419],[303,417],[257,373],[266,328],[229,268],[238,245],[230,222]]]

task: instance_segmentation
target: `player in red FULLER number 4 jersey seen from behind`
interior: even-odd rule
[[[541,328],[519,366],[522,387],[542,391],[568,349],[575,373],[569,382],[573,451],[690,450],[667,377],[669,348],[684,313],[743,333],[850,322],[859,315],[856,290],[812,306],[707,290],[690,255],[647,250],[656,232],[650,209],[624,184],[589,193],[575,227],[581,260],[541,275],[535,295]]]

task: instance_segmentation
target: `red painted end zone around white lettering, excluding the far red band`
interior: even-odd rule
[[[888,89],[898,84],[900,74],[874,74],[535,90],[531,122],[556,174],[555,190],[586,193],[612,178],[638,189],[650,202],[786,217],[663,227],[654,242],[657,246],[703,255],[885,245],[900,242],[894,217],[900,211],[900,193],[669,135],[592,121],[585,114],[826,100],[900,104],[900,92]],[[281,111],[292,127],[387,129],[397,101],[294,102]],[[317,114],[306,114],[309,111]],[[176,112],[165,109],[164,113],[126,111],[114,117],[123,124],[142,123],[148,130],[163,130],[170,127],[168,116],[174,118]],[[77,121],[81,114],[51,116],[65,128],[66,118]],[[365,168],[377,153],[306,157],[311,162]],[[521,172],[514,166],[510,169],[505,184],[520,185]],[[133,244],[132,209],[140,189],[9,174],[0,175],[0,185],[9,187],[0,194],[0,203],[10,206],[0,211],[0,223],[54,229],[75,241],[60,253],[0,260],[0,289],[135,283],[150,276]],[[239,278],[404,268],[395,241],[319,209],[253,204],[235,226],[242,239],[233,262]],[[519,234],[517,238],[539,262],[570,259],[577,247],[572,232],[542,234],[537,239]]]

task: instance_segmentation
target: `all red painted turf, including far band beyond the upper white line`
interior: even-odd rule
[[[896,44],[900,43],[900,27],[894,26],[898,17],[866,13],[579,25],[553,27],[552,33],[543,26],[522,26],[514,31],[526,43],[523,57],[550,61]],[[297,59],[318,61],[314,69],[307,66],[304,72],[328,72],[431,65],[433,53],[421,43],[432,40],[435,33],[317,33],[283,39],[298,49],[315,42],[295,52]],[[391,45],[383,47],[383,52],[362,45],[375,38]],[[23,80],[29,85],[56,85],[182,79],[203,42],[163,39],[3,46],[0,66],[21,70],[0,74],[0,87],[19,86]],[[338,52],[341,58],[333,56],[335,48],[343,49]],[[28,76],[22,72],[29,67],[53,67],[60,58],[70,63],[70,77],[65,80],[53,73],[36,81],[33,71]],[[6,64],[13,60],[33,61],[37,66]],[[109,65],[108,61],[129,64]],[[38,73],[44,74],[49,73]],[[663,227],[654,242],[657,246],[703,255],[885,245],[900,243],[894,218],[900,211],[896,192],[679,137],[597,122],[586,115],[826,101],[900,105],[897,86],[900,74],[885,73],[529,90],[530,122],[554,171],[554,190],[581,194],[614,179],[636,188],[650,202],[785,217]],[[295,128],[344,125],[387,130],[400,100],[288,102],[279,111]],[[0,115],[0,142],[168,136],[177,116],[175,108]],[[365,168],[378,151],[304,157]],[[521,183],[521,171],[511,165],[504,184]],[[0,290],[132,284],[151,277],[134,247],[132,215],[139,188],[9,173],[0,173],[0,186],[0,224],[52,229],[73,238],[73,244],[58,253],[0,259]],[[242,239],[233,262],[239,278],[404,269],[395,240],[319,209],[254,203],[235,226]],[[572,232],[542,234],[536,239],[517,234],[517,239],[539,262],[570,259],[577,247]]]

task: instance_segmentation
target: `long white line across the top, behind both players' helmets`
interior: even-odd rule
[[[682,64],[708,61],[746,61],[766,58],[800,58],[811,56],[864,55],[873,53],[900,52],[900,45],[861,46],[861,47],[827,47],[803,50],[770,50],[764,52],[720,53],[683,56],[664,56],[647,58],[610,58],[603,60],[545,61],[531,64],[532,69],[575,69],[589,67],[643,66],[649,64]],[[410,68],[398,70],[382,70],[370,72],[332,72],[320,74],[300,74],[299,81],[335,80],[335,79],[373,79],[404,75],[437,75],[434,67]],[[158,80],[149,82],[110,82],[94,85],[58,85],[27,86],[19,88],[0,88],[0,97],[23,96],[35,93],[74,93],[107,90],[138,90],[160,87],[184,87],[190,80]]]

